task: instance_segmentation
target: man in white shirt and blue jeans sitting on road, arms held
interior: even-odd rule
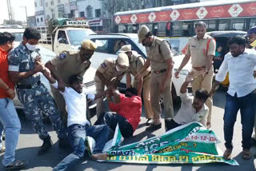
[[[50,71],[44,73],[49,82],[58,89],[58,82],[51,77]],[[102,149],[106,144],[109,135],[107,125],[90,125],[86,119],[86,95],[90,99],[97,99],[106,95],[105,91],[102,94],[87,94],[86,88],[82,86],[83,78],[78,75],[72,75],[69,78],[70,87],[65,87],[61,92],[67,106],[67,126],[71,148],[74,150],[70,155],[65,157],[54,170],[66,170],[70,165],[74,164],[84,156],[86,150],[86,136],[93,137],[96,141],[94,150],[90,155],[91,159],[105,160],[106,153],[102,153]]]

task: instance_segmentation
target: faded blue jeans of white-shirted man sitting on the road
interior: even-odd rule
[[[68,127],[71,148],[74,150],[65,157],[55,168],[54,171],[66,170],[70,165],[84,156],[86,145],[86,136],[93,137],[96,141],[93,153],[102,153],[102,149],[106,144],[109,136],[109,128],[107,125],[70,125]]]

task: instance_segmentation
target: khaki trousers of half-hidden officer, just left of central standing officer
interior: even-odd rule
[[[143,79],[143,100],[144,100],[144,109],[146,112],[146,118],[150,119],[154,117],[154,112],[151,107],[151,101],[150,101],[150,75],[146,76],[145,79]],[[138,89],[138,82],[134,80],[133,87],[135,89]]]

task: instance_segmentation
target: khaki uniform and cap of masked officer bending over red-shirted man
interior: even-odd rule
[[[123,53],[121,53],[121,54],[123,54]],[[119,55],[118,55],[118,57],[119,57]],[[126,58],[127,58],[127,63],[128,63],[127,66],[129,66],[127,55],[126,55]],[[107,58],[104,62],[102,62],[102,64],[100,66],[98,66],[97,71],[99,73],[103,74],[103,76],[107,79],[107,82],[111,82],[111,80],[113,80],[114,78],[121,80],[122,77],[126,74],[126,70],[125,71],[117,71],[116,70],[116,62],[117,61],[118,60],[114,59],[114,58]],[[102,80],[100,78],[98,78],[97,74],[95,74],[94,82],[96,85],[96,93],[102,93],[105,89],[105,84],[102,82]],[[103,97],[101,97],[101,98],[98,98],[98,100],[97,100],[97,106],[96,106],[97,117],[100,117],[103,112],[104,112],[104,104],[103,104]]]

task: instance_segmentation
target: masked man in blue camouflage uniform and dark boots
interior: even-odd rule
[[[38,40],[41,38],[38,30],[26,28],[23,34],[23,42],[9,54],[9,77],[16,83],[19,101],[24,105],[26,117],[32,121],[33,128],[42,139],[43,144],[38,154],[45,153],[50,149],[52,142],[46,127],[42,123],[41,113],[50,117],[50,121],[58,133],[59,145],[62,145],[66,132],[63,130],[62,120],[58,115],[53,97],[40,82],[39,73],[46,68],[40,62],[40,54],[36,49]]]

